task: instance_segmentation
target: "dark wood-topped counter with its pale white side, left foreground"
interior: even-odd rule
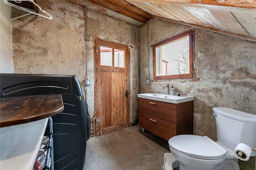
[[[32,170],[48,117],[64,109],[62,96],[0,99],[0,169]]]

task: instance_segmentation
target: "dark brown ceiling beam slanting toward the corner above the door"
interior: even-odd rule
[[[142,23],[145,23],[146,21],[148,21],[148,18],[145,18],[144,16],[140,16],[130,10],[127,10],[125,8],[122,8],[118,5],[116,5],[116,4],[113,4],[112,1],[107,1],[107,0],[88,0],[88,1],[93,2],[94,4],[100,5],[109,10],[112,10],[114,12],[118,12],[119,14],[122,14],[124,16],[128,16],[128,17],[130,17],[134,20],[140,21]],[[135,8],[135,6],[134,6],[134,8]],[[140,9],[138,8],[137,10],[139,11]],[[144,11],[140,10],[140,12],[144,12]]]

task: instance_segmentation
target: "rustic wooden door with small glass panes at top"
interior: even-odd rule
[[[128,46],[96,39],[96,136],[129,127],[129,66]]]

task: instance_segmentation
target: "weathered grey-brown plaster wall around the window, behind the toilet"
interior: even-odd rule
[[[216,141],[212,107],[230,107],[256,115],[256,43],[195,29],[196,78],[200,80],[153,80],[151,45],[182,33],[192,27],[168,21],[149,21],[149,70],[147,24],[140,26],[140,93],[160,92],[165,83],[173,84],[176,94],[194,96],[194,134]],[[255,169],[255,157],[239,161],[242,170]]]

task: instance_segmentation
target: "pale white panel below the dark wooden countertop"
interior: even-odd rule
[[[48,118],[0,128],[0,169],[32,170]]]

